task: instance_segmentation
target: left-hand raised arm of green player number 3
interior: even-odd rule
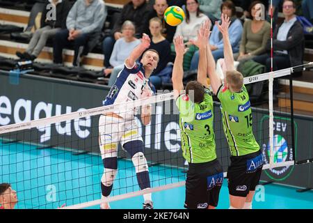
[[[177,36],[174,39],[174,45],[176,57],[174,67],[172,68],[172,89],[174,90],[174,97],[176,99],[179,97],[180,92],[184,90],[184,84],[182,82],[184,76],[183,60],[184,54],[187,52],[188,48],[185,49],[182,36]]]

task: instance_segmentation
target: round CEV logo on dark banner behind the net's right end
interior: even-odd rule
[[[267,121],[264,121],[267,119]],[[268,116],[262,118],[262,127],[265,134],[268,133]],[[289,118],[283,117],[274,117],[273,129],[273,148],[271,148],[271,141],[266,139],[262,143],[262,153],[264,157],[264,164],[279,164],[283,162],[293,161],[294,160],[294,151],[292,148],[292,138],[290,135],[291,132],[291,120]],[[294,134],[295,142],[297,141],[298,128],[296,122],[294,122]],[[259,139],[262,139],[262,136],[259,135]],[[296,143],[295,143],[296,144]],[[271,159],[272,157],[272,159]],[[271,163],[272,160],[272,163]],[[285,180],[291,173],[294,171],[294,165],[275,167],[270,169],[265,169],[265,173],[268,178],[271,180]]]

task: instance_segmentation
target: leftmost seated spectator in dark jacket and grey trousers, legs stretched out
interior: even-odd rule
[[[48,5],[54,4],[56,7],[56,17],[51,17],[49,14]],[[66,29],[66,17],[70,11],[70,3],[67,0],[49,0],[46,2],[45,8],[41,16],[41,28],[36,30],[29,42],[24,53],[17,51],[16,55],[20,59],[35,60],[43,47],[45,47],[47,40],[53,37],[61,29]],[[50,9],[51,10],[51,9]]]

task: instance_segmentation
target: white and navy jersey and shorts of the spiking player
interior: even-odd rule
[[[118,78],[111,87],[103,105],[114,105],[117,103],[138,100],[141,98],[143,89],[156,90],[149,79],[145,78],[143,64],[134,64],[133,68],[125,68],[120,71]],[[136,109],[134,107],[125,107],[120,111],[114,112],[122,118],[112,116],[100,116],[99,118],[99,136],[100,150],[102,159],[106,157],[115,157],[118,153],[118,142],[126,144],[128,141],[143,141],[138,134],[138,125],[134,120]]]

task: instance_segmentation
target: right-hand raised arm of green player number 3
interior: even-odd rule
[[[206,88],[207,84],[207,43],[209,41],[211,28],[211,20],[206,20],[198,31],[197,40],[190,40],[193,45],[199,48],[199,65],[198,65],[198,82],[200,82]]]

